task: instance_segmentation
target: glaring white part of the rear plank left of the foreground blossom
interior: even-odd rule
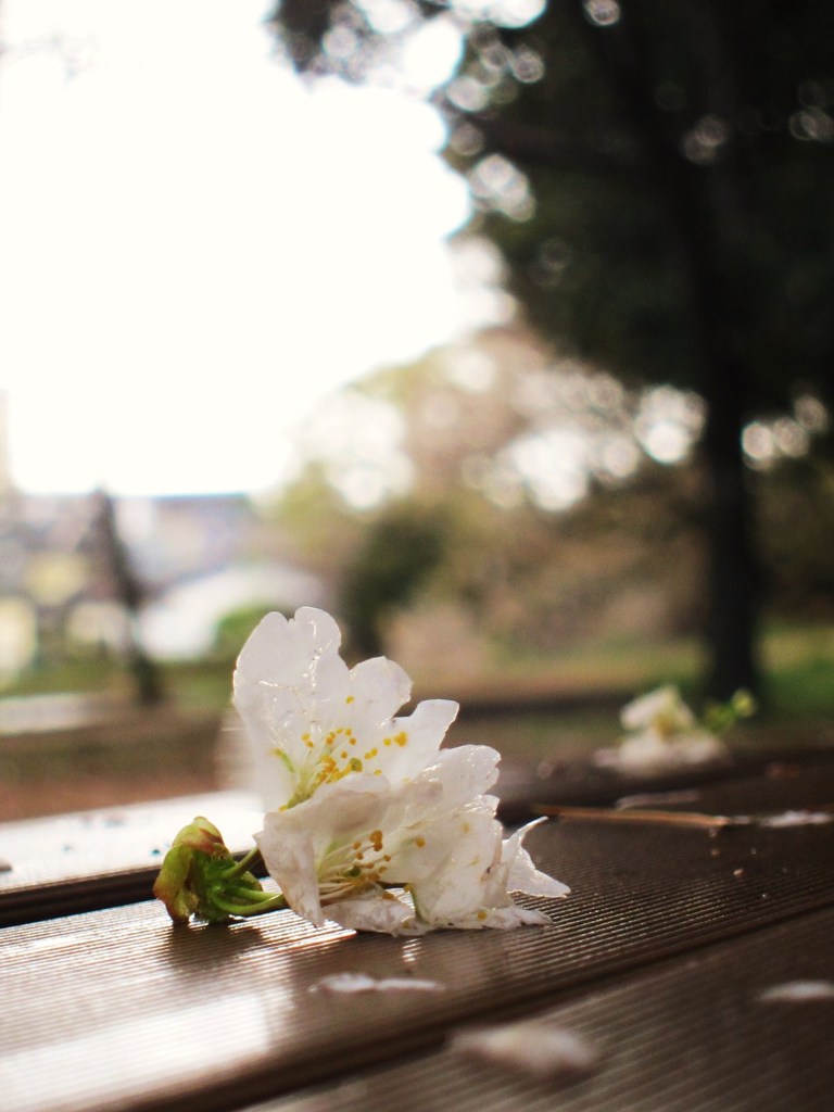
[[[0,926],[147,900],[171,838],[205,813],[232,852],[251,848],[261,813],[241,792],[0,824]]]

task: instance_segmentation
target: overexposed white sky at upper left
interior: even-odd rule
[[[304,86],[267,7],[2,0],[0,389],[23,489],[267,487],[325,391],[459,332],[444,237],[468,200],[438,118]],[[448,67],[449,37],[429,46]]]

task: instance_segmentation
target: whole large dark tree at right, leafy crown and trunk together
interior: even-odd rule
[[[834,7],[825,0],[282,0],[296,67],[390,78],[427,27],[473,227],[563,350],[694,388],[709,689],[756,687],[761,584],[742,430],[834,378]]]

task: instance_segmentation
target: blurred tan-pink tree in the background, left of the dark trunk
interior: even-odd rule
[[[359,394],[379,418],[399,414],[399,438],[366,460],[377,499],[357,506],[349,451],[339,463],[331,449],[334,428],[363,411]],[[335,394],[326,435],[307,430],[271,510],[365,652],[431,613],[455,614],[478,652],[514,658],[688,635],[703,615],[693,468],[662,466],[645,445],[663,431],[674,459],[687,458],[701,409],[692,395],[628,391],[554,359],[522,329],[490,329]],[[376,471],[403,457],[406,493],[386,489]]]

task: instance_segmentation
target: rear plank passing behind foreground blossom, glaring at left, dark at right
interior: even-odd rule
[[[701,770],[698,782],[691,780],[683,794],[679,788],[685,780],[676,782],[672,797],[649,794],[643,806],[732,815],[775,814],[834,802],[834,761],[770,767],[771,775],[755,777],[734,770],[728,780],[716,778],[715,770],[713,778],[706,780],[706,771]],[[579,780],[568,778],[555,806],[598,798],[594,784],[589,778],[583,793]],[[499,786],[505,820],[520,821],[535,812],[542,787],[535,770],[510,762]],[[618,782],[616,791],[609,785],[604,798],[609,803],[624,791],[647,786],[651,782]],[[555,795],[553,786],[545,793],[546,797]],[[261,825],[257,796],[242,792],[0,824],[0,857],[12,865],[0,872],[0,925],[146,900],[170,840],[196,814],[208,815],[235,852],[250,848],[251,834]]]

